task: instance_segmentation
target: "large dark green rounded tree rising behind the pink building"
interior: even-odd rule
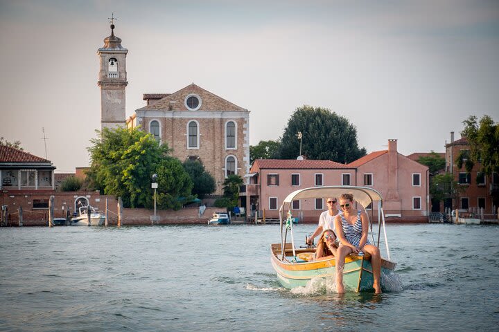
[[[280,159],[297,158],[300,149],[298,132],[303,135],[301,154],[309,159],[351,163],[366,154],[365,148],[358,146],[356,127],[347,118],[329,109],[303,106],[297,108],[288,120],[281,138]]]

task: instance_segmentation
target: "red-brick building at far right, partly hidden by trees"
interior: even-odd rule
[[[480,172],[482,165],[475,163],[471,172],[466,172],[464,164],[469,154],[469,142],[465,137],[454,140],[454,133],[450,133],[450,143],[446,145],[446,171],[453,174],[453,178],[464,191],[457,199],[446,203],[446,208],[461,209],[467,212],[493,214],[499,206],[499,174],[494,172],[485,176]],[[457,165],[457,158],[462,158],[462,167]]]

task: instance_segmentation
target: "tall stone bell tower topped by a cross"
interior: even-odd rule
[[[97,50],[100,57],[98,86],[100,86],[100,130],[125,127],[126,55],[121,38],[114,35],[111,17],[111,35],[104,39],[104,46]]]

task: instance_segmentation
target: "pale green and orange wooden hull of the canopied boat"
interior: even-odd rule
[[[288,250],[286,251],[288,255]],[[336,261],[334,258],[324,261],[299,261],[292,263],[279,259],[280,252],[281,244],[273,244],[271,255],[272,267],[277,274],[279,283],[285,288],[304,287],[313,278],[335,277],[336,275]],[[383,263],[385,266],[382,269],[384,270],[392,270],[394,268],[394,264],[389,261],[383,261]],[[349,255],[345,258],[343,284],[347,291],[356,293],[374,291],[372,287],[373,282],[374,277],[368,255],[362,257]]]

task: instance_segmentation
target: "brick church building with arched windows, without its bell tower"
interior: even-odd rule
[[[127,120],[128,127],[140,126],[182,162],[200,160],[217,183],[231,174],[249,171],[249,111],[200,86],[190,84],[174,93],[143,95],[145,107]]]

